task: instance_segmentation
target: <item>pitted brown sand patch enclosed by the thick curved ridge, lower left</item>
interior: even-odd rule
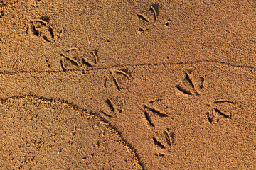
[[[23,105],[23,101],[25,101],[24,103],[26,103],[26,105]],[[87,155],[87,150],[85,149],[85,145],[87,145],[85,143],[85,145],[81,145],[80,142],[76,142],[77,140],[73,140],[73,139],[81,139],[80,137],[86,137],[84,133],[84,131],[87,131],[87,127],[88,126],[92,126],[92,128],[96,127],[95,131],[90,133],[90,131],[88,131],[88,133],[90,133],[90,135],[97,135],[98,141],[97,141],[97,147],[100,147],[100,140],[103,139],[103,137],[105,136],[105,134],[107,133],[107,136],[109,137],[109,135],[114,135],[112,137],[114,137],[113,139],[116,140],[110,140],[110,144],[112,142],[117,142],[117,145],[114,146],[120,146],[120,147],[127,147],[125,149],[125,152],[127,152],[128,154],[131,154],[131,157],[134,158],[134,163],[138,163],[137,168],[140,169],[145,169],[144,168],[144,164],[142,163],[139,154],[137,153],[137,150],[134,149],[134,147],[132,146],[132,144],[130,144],[129,142],[127,142],[127,140],[123,137],[122,132],[120,132],[119,130],[117,130],[117,128],[112,125],[110,122],[108,122],[107,120],[105,120],[104,118],[101,118],[100,116],[98,116],[95,113],[92,112],[87,112],[85,111],[85,109],[80,108],[76,105],[73,105],[72,103],[68,103],[68,101],[59,101],[59,100],[55,100],[53,98],[48,99],[48,98],[44,98],[42,97],[37,97],[35,95],[24,95],[24,96],[14,96],[14,97],[10,97],[10,98],[1,98],[0,99],[0,104],[1,104],[1,108],[8,108],[6,109],[6,111],[4,112],[3,118],[1,118],[3,121],[1,121],[1,123],[4,123],[1,127],[4,129],[12,129],[9,130],[12,133],[14,132],[14,134],[25,134],[25,135],[29,135],[29,134],[37,134],[36,136],[33,135],[31,136],[31,138],[27,139],[21,139],[18,140],[18,142],[11,142],[8,143],[7,140],[11,140],[11,135],[9,135],[10,133],[6,133],[6,130],[1,129],[0,132],[3,132],[4,134],[4,138],[1,140],[1,142],[3,142],[3,149],[6,149],[6,153],[9,154],[9,157],[4,157],[4,155],[2,155],[2,158],[4,158],[6,160],[6,162],[11,162],[13,165],[16,164],[17,167],[20,166],[24,168],[24,166],[29,167],[31,165],[26,164],[26,162],[28,161],[32,161],[35,157],[37,157],[37,155],[39,156],[43,156],[45,157],[46,155],[44,154],[44,152],[29,152],[32,150],[36,150],[38,151],[38,149],[40,148],[45,148],[45,149],[50,149],[50,151],[53,152],[53,154],[62,154],[59,155],[60,157],[65,157],[65,154],[63,154],[63,152],[65,153],[70,153],[70,152],[76,152],[76,154],[74,154],[74,157],[77,157],[78,159],[86,159],[85,155]],[[19,107],[16,106],[16,104],[22,104],[22,111],[19,110]],[[14,106],[14,107],[12,107]],[[28,107],[27,110],[25,110],[24,108]],[[9,110],[10,108],[10,110]],[[29,109],[29,108],[33,108],[33,109]],[[36,108],[40,108],[39,110],[36,110]],[[49,109],[50,113],[45,115],[43,113],[41,113],[41,109]],[[14,114],[14,112],[20,111],[20,113]],[[26,111],[31,111],[31,113],[26,113]],[[46,110],[48,111],[48,110]],[[68,113],[66,112],[68,111]],[[75,114],[74,114],[75,113]],[[79,118],[80,115],[83,115],[82,118]],[[24,117],[24,115],[26,115]],[[64,115],[64,118],[62,118],[62,116]],[[70,118],[70,115],[73,116]],[[9,126],[9,123],[11,123],[11,121],[16,120],[18,121],[17,125],[21,125],[22,130],[18,130],[16,128],[17,125],[11,125]],[[50,125],[48,125],[48,120],[52,123],[50,123]],[[87,121],[89,120],[89,121]],[[15,123],[16,123],[15,121]],[[27,123],[24,123],[24,121],[26,121]],[[87,121],[87,122],[86,122]],[[34,125],[35,123],[40,123],[40,125]],[[30,125],[30,123],[32,123],[32,127]],[[53,127],[52,131],[48,131],[48,130],[44,130],[44,127],[41,127],[41,124],[45,123],[46,124],[46,128],[48,128],[48,126],[50,126],[50,128]],[[64,131],[61,130],[62,128],[56,128],[56,127],[60,127],[63,124],[61,123],[65,123],[67,125],[71,125],[69,126],[69,128],[65,128],[64,127]],[[75,123],[75,124],[73,124]],[[88,124],[88,125],[85,125]],[[5,125],[6,124],[6,125]],[[40,129],[38,129],[38,127],[41,127]],[[55,127],[55,128],[54,128]],[[97,130],[98,128],[100,128],[101,130]],[[23,130],[25,129],[25,130]],[[31,129],[32,132],[26,130],[26,129]],[[42,132],[41,132],[42,130]],[[80,130],[82,130],[83,132],[80,133]],[[19,132],[21,131],[21,132]],[[100,134],[98,133],[100,132]],[[1,133],[2,134],[2,133]],[[41,140],[41,135],[48,137],[48,140],[46,141],[42,141]],[[96,137],[96,136],[95,136]],[[96,139],[97,139],[96,138]],[[57,141],[57,140],[58,141]],[[87,138],[88,139],[88,138]],[[61,140],[61,141],[60,141]],[[90,139],[89,139],[90,140]],[[56,145],[55,147],[48,147],[43,145],[44,142],[54,142],[54,143],[58,143],[60,145]],[[93,141],[93,140],[92,140]],[[95,141],[95,142],[96,142]],[[104,140],[106,141],[106,140]],[[25,144],[26,143],[26,144]],[[24,145],[25,144],[25,145]],[[73,146],[70,148],[67,148],[67,146]],[[90,143],[90,145],[94,145],[92,143]],[[112,145],[111,145],[112,146]],[[14,148],[16,147],[16,148]],[[105,148],[105,146],[103,146]],[[11,148],[14,148],[11,149]],[[21,148],[21,150],[20,150]],[[24,149],[25,148],[25,149]],[[28,148],[28,149],[26,149]],[[18,157],[20,154],[22,155],[23,152],[29,152],[28,157],[25,157],[25,161],[23,161],[23,157]],[[16,151],[16,152],[15,152]],[[41,150],[43,151],[43,150]],[[94,152],[97,151],[102,151],[102,149],[97,149],[95,148]],[[30,154],[31,153],[31,154]],[[36,153],[36,154],[35,154]],[[89,152],[90,155],[93,152]],[[112,154],[112,152],[110,152],[110,154]],[[114,154],[114,153],[113,153]],[[118,154],[118,153],[117,153]],[[88,154],[89,155],[89,154]],[[15,157],[15,160],[14,160]],[[47,156],[46,156],[47,157]],[[49,156],[50,157],[50,156]],[[86,161],[86,160],[83,161]],[[92,159],[90,161],[93,161]],[[107,159],[108,161],[108,159]],[[22,163],[22,164],[21,164]],[[24,164],[23,164],[24,163]],[[46,163],[44,161],[41,161],[41,163]],[[41,166],[42,164],[38,164],[38,167]],[[106,162],[107,163],[107,162]],[[82,166],[81,162],[78,160],[77,165]],[[7,165],[8,164],[4,164]],[[1,166],[4,166],[1,164]],[[9,164],[10,165],[10,164]],[[69,166],[70,164],[65,164],[66,166]],[[75,164],[74,164],[75,165]],[[139,166],[139,167],[138,167]],[[26,169],[25,167],[25,169]],[[37,167],[36,164],[34,164],[33,167]]]

